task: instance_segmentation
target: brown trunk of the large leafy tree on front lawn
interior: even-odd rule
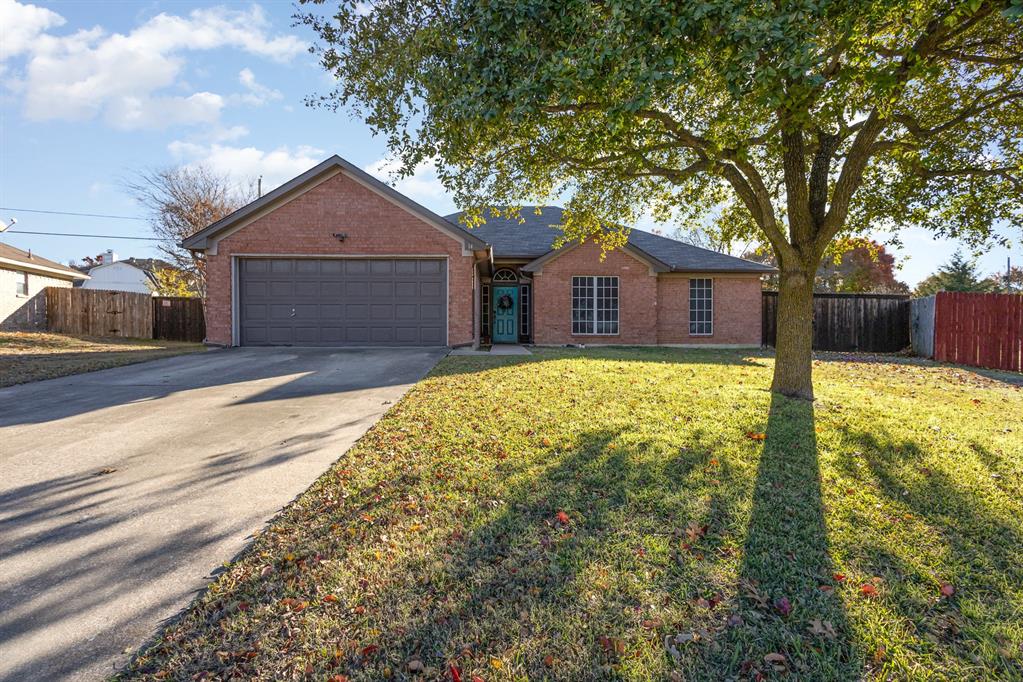
[[[774,379],[770,390],[791,398],[813,400],[812,268],[782,265],[777,286],[777,338]]]

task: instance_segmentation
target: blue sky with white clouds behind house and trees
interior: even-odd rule
[[[142,221],[25,209],[138,217],[124,181],[183,164],[241,182],[263,176],[265,191],[338,153],[389,179],[381,138],[348,112],[303,103],[330,80],[293,12],[290,2],[0,0],[0,219],[16,217],[12,230],[149,236]],[[455,210],[429,169],[396,186],[438,213]],[[61,262],[106,248],[154,255],[150,242],[119,238],[0,239]],[[958,247],[923,230],[901,239],[909,284]],[[1003,271],[1007,256],[1023,265],[1018,242],[982,256],[981,269]]]

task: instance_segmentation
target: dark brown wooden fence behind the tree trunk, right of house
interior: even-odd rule
[[[763,292],[764,346],[777,339],[777,291]],[[909,346],[909,297],[814,293],[813,350],[897,353]]]

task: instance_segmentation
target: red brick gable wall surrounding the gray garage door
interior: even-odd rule
[[[345,232],[342,242],[330,236]],[[220,241],[207,267],[207,339],[231,343],[231,257],[446,256],[448,344],[473,342],[473,257],[462,242],[345,175],[337,175]]]

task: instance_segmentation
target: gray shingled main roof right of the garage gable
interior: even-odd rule
[[[533,260],[553,248],[554,240],[562,235],[563,209],[559,207],[523,207],[523,222],[488,216],[486,223],[472,229],[473,234],[493,247],[494,258]],[[457,223],[460,213],[446,216]],[[718,254],[707,248],[669,239],[642,230],[629,232],[629,245],[650,258],[666,265],[672,272],[774,272],[774,268],[746,261],[735,256]]]

